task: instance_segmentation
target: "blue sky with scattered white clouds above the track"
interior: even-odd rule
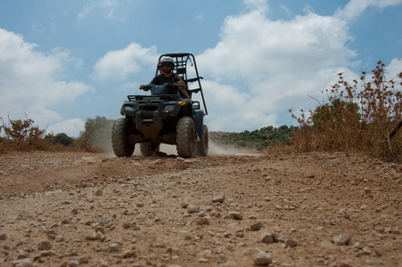
[[[402,0],[0,1],[0,117],[77,137],[147,94],[160,54],[193,53],[209,131],[297,125],[289,109],[315,109],[337,73],[402,71],[401,13]]]

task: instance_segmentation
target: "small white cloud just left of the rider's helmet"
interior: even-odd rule
[[[155,64],[157,59],[156,46],[143,48],[140,44],[131,43],[124,49],[106,53],[96,61],[94,77],[125,80],[129,75],[140,72],[144,64]]]

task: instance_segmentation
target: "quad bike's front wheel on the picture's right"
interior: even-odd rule
[[[176,125],[176,150],[183,158],[192,158],[194,153],[195,125],[193,118],[180,117]]]

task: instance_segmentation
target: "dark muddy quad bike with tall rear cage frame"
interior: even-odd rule
[[[208,112],[201,87],[203,77],[198,74],[195,58],[192,53],[166,53],[160,55],[159,61],[164,57],[175,61],[174,72],[183,78],[187,88],[193,87],[187,89],[189,95],[201,93],[205,111],[200,101],[167,94],[169,86],[177,84],[146,85],[151,95],[128,95],[120,109],[123,117],[113,125],[111,143],[117,157],[133,155],[135,143],[140,143],[143,156],[159,152],[160,143],[176,145],[177,154],[182,158],[208,154],[208,127],[203,124]]]

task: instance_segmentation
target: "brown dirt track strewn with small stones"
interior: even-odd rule
[[[0,156],[0,181],[0,266],[402,262],[402,166],[373,159],[27,152]]]

